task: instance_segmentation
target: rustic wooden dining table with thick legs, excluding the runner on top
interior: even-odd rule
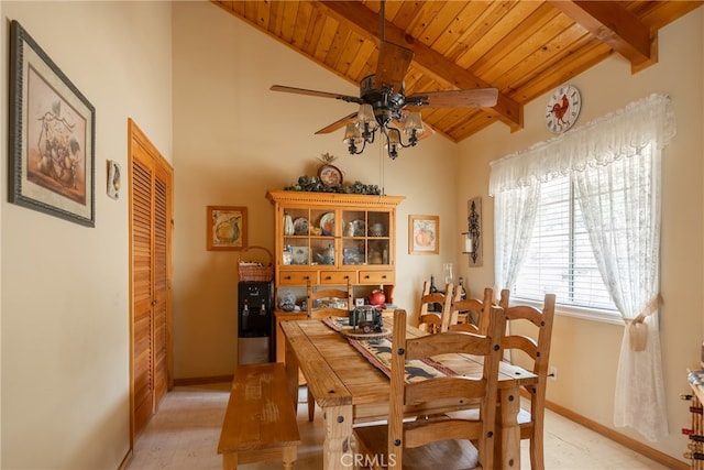
[[[386,319],[385,319],[386,320]],[[391,324],[391,321],[387,321]],[[354,468],[352,427],[356,424],[386,420],[388,417],[389,380],[372,364],[348,338],[321,320],[282,321],[286,337],[288,386],[297,405],[298,372],[306,378],[316,403],[323,412],[326,426],[323,469]],[[407,336],[426,335],[408,326]],[[446,354],[438,362],[459,374],[481,375],[480,358],[470,354]],[[495,462],[502,469],[520,469],[520,429],[517,416],[521,385],[537,383],[532,372],[502,362],[499,367],[499,416],[495,441]],[[429,404],[428,415],[462,409],[452,403]]]

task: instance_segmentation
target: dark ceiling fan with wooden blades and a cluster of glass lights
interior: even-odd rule
[[[316,134],[330,133],[346,125],[344,142],[351,154],[364,151],[367,143],[374,142],[376,130],[386,136],[388,156],[398,156],[398,147],[416,145],[419,136],[427,130],[420,112],[409,112],[407,108],[469,108],[493,107],[496,105],[496,88],[473,88],[462,90],[440,90],[416,92],[406,96],[404,77],[406,76],[414,52],[404,46],[391,43],[385,39],[385,15],[382,0],[380,9],[381,43],[376,73],[367,75],[360,83],[360,96],[317,91],[273,85],[273,91],[334,98],[360,105],[360,109],[342,119],[320,129]],[[407,143],[402,140],[402,129],[408,135]],[[431,131],[431,129],[429,129]],[[426,133],[429,135],[431,132]],[[359,145],[362,145],[359,149]]]

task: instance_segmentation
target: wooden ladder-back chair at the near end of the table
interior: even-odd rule
[[[493,308],[488,336],[446,331],[406,338],[406,311],[394,313],[388,423],[354,428],[356,452],[364,457],[365,463],[373,469],[493,468],[498,363],[505,330],[501,307]],[[477,376],[442,375],[406,381],[406,361],[458,352],[484,357]],[[481,401],[476,419],[447,416],[405,419],[425,416],[430,403],[461,405],[474,400]],[[477,447],[470,440],[475,440]]]

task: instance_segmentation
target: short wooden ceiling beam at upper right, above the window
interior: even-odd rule
[[[617,2],[549,0],[630,62],[636,73],[658,62],[658,34]]]

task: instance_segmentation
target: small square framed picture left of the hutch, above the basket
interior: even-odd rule
[[[208,250],[246,248],[246,207],[208,206]]]

